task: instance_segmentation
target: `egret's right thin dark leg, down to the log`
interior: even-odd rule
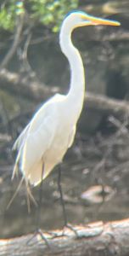
[[[67,214],[66,214],[65,205],[64,205],[64,196],[63,196],[63,191],[62,191],[62,186],[61,186],[61,167],[60,166],[59,166],[58,186],[59,186],[60,202],[61,202],[62,209],[63,209],[64,227],[72,230],[76,234],[76,236],[78,236],[77,231],[70,224],[68,224]]]

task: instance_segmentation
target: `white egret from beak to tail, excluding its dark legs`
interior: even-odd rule
[[[99,19],[81,11],[73,11],[65,17],[59,44],[70,63],[70,90],[44,103],[17,138],[13,177],[20,167],[25,182],[36,186],[63,160],[72,145],[85,96],[85,75],[81,55],[71,42],[71,32],[78,26],[99,24],[120,26],[117,21]]]

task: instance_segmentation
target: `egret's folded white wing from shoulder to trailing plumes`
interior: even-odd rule
[[[58,103],[63,100],[64,96],[62,95],[53,96],[35,113],[31,122],[21,132],[20,137],[14,143],[14,149],[18,149],[18,154],[13,177],[20,164],[20,171],[23,172],[26,179],[29,179],[31,169],[38,160],[42,160],[44,152],[52,143],[55,131],[58,129]]]

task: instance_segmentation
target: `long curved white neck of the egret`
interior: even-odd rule
[[[62,52],[70,63],[70,90],[67,98],[70,102],[70,108],[74,108],[78,119],[85,95],[85,74],[81,55],[71,42],[71,32],[70,26],[64,22],[60,31],[59,42]]]

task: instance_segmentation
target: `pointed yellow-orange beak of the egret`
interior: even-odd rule
[[[89,21],[89,25],[108,25],[108,26],[121,26],[119,21],[106,20],[92,15],[82,15],[83,20]]]

